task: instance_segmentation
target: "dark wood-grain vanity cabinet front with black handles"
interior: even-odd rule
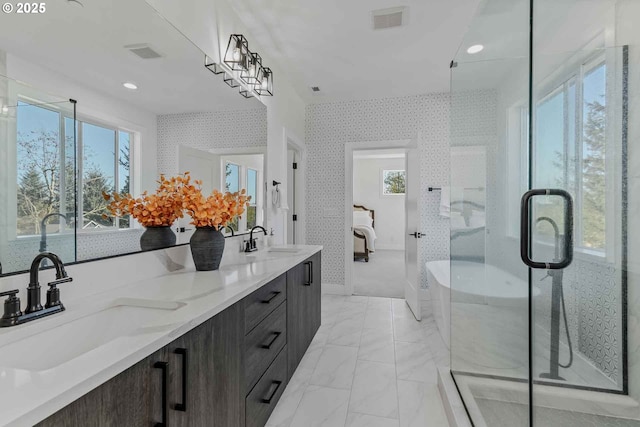
[[[320,253],[38,426],[262,427],[320,327]]]

